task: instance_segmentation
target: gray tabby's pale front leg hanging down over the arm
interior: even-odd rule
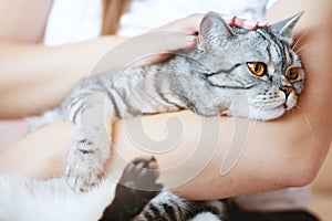
[[[114,106],[104,93],[84,96],[72,109],[75,123],[68,154],[65,176],[76,191],[87,191],[104,176],[111,154]]]

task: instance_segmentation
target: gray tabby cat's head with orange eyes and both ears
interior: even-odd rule
[[[227,114],[272,119],[294,107],[304,84],[300,57],[291,48],[300,17],[256,31],[230,28],[215,12],[204,17],[198,48],[211,71],[205,77],[214,87],[228,88],[232,104]]]

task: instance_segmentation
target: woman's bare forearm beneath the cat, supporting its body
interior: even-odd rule
[[[7,148],[1,172],[62,176],[72,128],[71,123],[50,125]],[[133,158],[155,156],[159,181],[190,199],[308,185],[329,148],[324,136],[312,137],[300,110],[269,123],[172,113],[120,120],[113,131],[108,178]]]

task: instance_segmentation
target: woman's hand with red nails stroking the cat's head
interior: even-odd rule
[[[247,30],[255,30],[259,27],[266,25],[266,23],[258,22],[255,20],[246,20],[240,19],[235,15],[228,14],[220,14],[220,17],[230,25],[230,27],[238,27]],[[153,63],[162,62],[168,59],[173,52],[181,50],[181,49],[193,49],[197,44],[197,33],[199,31],[199,24],[204,14],[190,14],[183,19],[178,19],[170,23],[167,23],[152,33],[159,33],[156,34],[158,41],[160,42],[157,49],[162,51],[162,53],[157,53],[154,56],[149,56],[148,59],[141,60],[135,65],[143,66],[149,65]],[[160,33],[164,34],[160,34]],[[149,33],[151,34],[151,33]]]

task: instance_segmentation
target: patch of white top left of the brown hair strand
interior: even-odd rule
[[[97,38],[101,23],[101,0],[54,0],[44,44],[61,45]]]

